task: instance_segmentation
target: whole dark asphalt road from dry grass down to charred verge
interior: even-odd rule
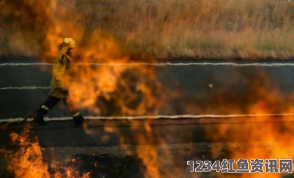
[[[35,59],[1,59],[4,62],[36,62]],[[170,62],[179,62],[176,60]],[[191,62],[191,59],[181,59],[180,62]],[[206,62],[208,60],[205,60]],[[212,60],[213,62],[216,62]],[[194,61],[195,62],[195,61]],[[197,62],[203,62],[197,60]],[[218,61],[227,62],[227,61]],[[233,61],[246,63],[246,61]],[[250,61],[252,62],[252,61]],[[275,61],[277,62],[277,61]],[[288,61],[287,61],[288,62]],[[282,61],[283,63],[283,61]],[[232,65],[188,65],[188,66],[157,66],[158,79],[163,89],[177,90],[180,97],[171,97],[164,103],[162,115],[197,115],[197,114],[227,114],[220,108],[234,108],[246,113],[247,105],[254,104],[259,99],[252,90],[254,86],[268,92],[279,91],[282,101],[288,101],[294,89],[294,66],[232,66]],[[0,66],[0,88],[12,86],[49,86],[50,68],[40,66]],[[209,87],[213,84],[213,88]],[[256,89],[256,88],[254,88]],[[164,92],[164,91],[162,91]],[[219,96],[222,99],[219,99]],[[257,95],[257,94],[256,94]],[[24,118],[34,111],[48,96],[48,90],[0,90],[0,119]],[[252,97],[253,96],[253,97]],[[263,96],[266,97],[266,96]],[[187,106],[189,105],[189,107]],[[193,107],[195,106],[195,110]],[[190,109],[187,109],[190,108]],[[192,109],[191,109],[192,108]],[[197,108],[197,109],[196,109]],[[275,107],[274,107],[275,108]],[[279,111],[279,110],[277,110]],[[276,110],[272,111],[273,113]],[[233,113],[232,113],[233,114]],[[87,115],[87,111],[83,111]],[[70,117],[66,109],[56,107],[49,117]],[[236,118],[237,120],[238,118]],[[238,119],[240,120],[240,119]],[[246,119],[243,119],[246,120]],[[279,118],[277,118],[279,120]],[[292,121],[292,120],[290,120]],[[49,126],[36,127],[33,133],[38,135],[41,146],[111,146],[121,143],[121,137],[126,137],[127,144],[144,144],[138,135],[148,135],[145,128],[146,120],[139,121],[139,126],[126,120],[90,121],[90,134],[85,129],[75,127],[72,120],[52,121]],[[204,130],[217,130],[218,122],[207,119],[208,124],[199,124],[198,119],[158,119],[149,121],[151,136],[146,139],[150,143],[183,143],[211,141],[206,138]],[[137,122],[136,122],[137,123]],[[106,127],[113,127],[107,131]],[[240,127],[243,123],[228,123]],[[247,123],[267,124],[267,123]],[[270,123],[269,123],[270,124]],[[141,126],[140,126],[141,125]],[[0,145],[4,146],[9,140],[11,130],[21,129],[23,125],[10,125],[0,132]],[[249,130],[244,130],[249,131]],[[240,141],[233,137],[220,137],[214,141]]]

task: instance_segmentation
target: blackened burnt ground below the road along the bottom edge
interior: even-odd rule
[[[245,144],[245,143],[244,143]],[[210,148],[220,146],[222,155],[217,158],[211,156]],[[128,147],[136,149],[135,146]],[[164,147],[164,148],[163,148]],[[238,178],[239,174],[212,172],[189,172],[187,160],[216,161],[227,158],[229,150],[220,143],[184,143],[168,145],[168,156],[165,146],[158,146],[158,162],[160,177],[171,178]],[[142,151],[145,147],[141,147]],[[106,151],[107,150],[107,151]],[[58,161],[58,168],[49,167],[48,172],[54,175],[56,172],[66,175],[67,170],[74,170],[74,177],[88,174],[92,178],[152,178],[147,171],[142,159],[133,153],[123,153],[121,146],[114,147],[50,147],[43,151],[43,163],[50,165],[52,160]],[[0,155],[1,178],[13,178],[11,172],[5,170],[6,159]],[[281,178],[293,178],[294,175],[284,174]]]

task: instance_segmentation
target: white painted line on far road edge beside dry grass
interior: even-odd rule
[[[187,65],[228,65],[228,66],[265,66],[265,67],[281,67],[281,66],[294,66],[294,63],[234,63],[234,62],[187,62],[187,63],[77,63],[78,65],[109,65],[109,66],[121,66],[121,65],[154,65],[154,66],[187,66]],[[34,63],[0,63],[1,66],[32,66],[32,65],[53,65],[46,62],[34,62]]]

